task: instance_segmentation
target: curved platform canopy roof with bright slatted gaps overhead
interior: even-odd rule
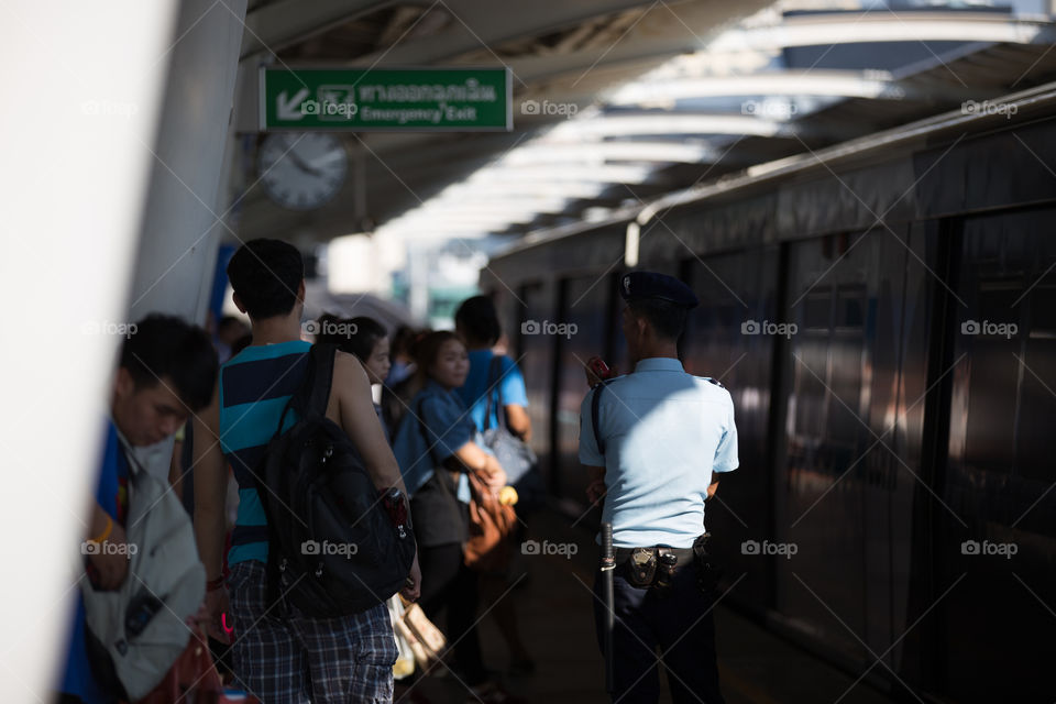
[[[239,229],[515,238],[1056,79],[1047,15],[855,4],[251,2],[246,66],[508,66],[514,130],[342,134],[350,177],[307,212],[272,204],[246,167]],[[240,96],[246,134],[256,100]],[[544,101],[564,108],[521,108]]]

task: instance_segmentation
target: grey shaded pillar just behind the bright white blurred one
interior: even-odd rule
[[[217,244],[246,0],[180,6],[130,297],[130,320],[168,312],[202,322]],[[219,219],[219,220],[218,220]]]

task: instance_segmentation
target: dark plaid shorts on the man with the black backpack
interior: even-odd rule
[[[263,562],[231,568],[228,580],[235,682],[264,704],[393,701],[396,639],[385,604],[354,616],[283,617],[268,609]]]

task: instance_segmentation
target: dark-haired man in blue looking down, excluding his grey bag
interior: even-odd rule
[[[96,502],[88,520],[86,538],[96,543],[125,542],[125,452],[156,444],[175,433],[189,414],[209,403],[217,378],[217,354],[205,330],[167,316],[150,316],[132,329],[121,349],[113,382]],[[128,578],[127,554],[123,550],[89,552],[87,579],[96,588],[117,588]],[[85,637],[85,604],[78,590],[61,701],[116,702],[117,694],[105,691],[94,676]]]

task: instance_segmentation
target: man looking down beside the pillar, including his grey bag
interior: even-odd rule
[[[143,451],[161,450],[163,460],[172,453],[160,443],[209,403],[217,355],[209,336],[179,318],[150,316],[130,330],[81,544],[87,575],[59,684],[64,704],[150,691],[186,646],[190,629],[182,619],[204,591],[187,516],[165,495],[164,474],[147,475],[144,458],[158,452]],[[155,550],[165,551],[164,564],[153,560]]]

